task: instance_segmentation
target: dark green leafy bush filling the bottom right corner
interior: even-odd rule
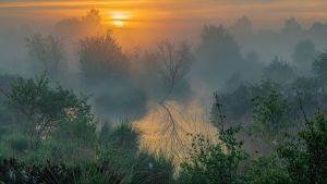
[[[278,149],[284,159],[292,183],[327,182],[327,121],[317,112],[314,120],[305,121],[305,126],[298,137],[289,138]]]

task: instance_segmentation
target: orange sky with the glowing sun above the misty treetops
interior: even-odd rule
[[[254,27],[278,28],[286,17],[304,26],[327,22],[326,0],[0,0],[0,26],[12,22],[51,23],[98,9],[105,24],[121,37],[133,32],[157,37],[184,35],[205,24],[229,25],[243,15]]]

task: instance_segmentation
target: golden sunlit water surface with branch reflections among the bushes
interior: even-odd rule
[[[154,107],[145,118],[135,122],[143,133],[142,147],[154,151],[168,151],[177,159],[183,158],[186,147],[190,148],[191,137],[187,134],[203,134],[217,137],[216,128],[209,124],[209,113],[196,100],[184,105],[169,101],[168,107],[174,119],[171,123],[167,111],[159,105]]]

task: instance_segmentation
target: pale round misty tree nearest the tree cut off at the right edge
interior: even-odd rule
[[[311,40],[303,40],[296,44],[293,52],[293,62],[298,64],[301,72],[308,74],[312,62],[316,54],[315,44]]]

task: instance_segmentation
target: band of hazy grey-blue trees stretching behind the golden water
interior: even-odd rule
[[[226,90],[238,86],[240,79],[257,82],[263,73],[278,82],[313,75],[311,63],[319,54],[315,42],[306,37],[296,40],[288,57],[292,60],[276,57],[267,66],[267,59],[255,50],[244,51],[237,34],[231,34],[235,27],[252,29],[246,28],[251,25],[246,22],[250,21],[245,17],[240,20],[234,28],[204,26],[197,45],[162,40],[153,49],[126,52],[111,32],[104,30],[99,12],[92,10],[81,19],[58,23],[52,34],[28,36],[24,62],[27,70],[20,75],[29,73],[24,76],[33,77],[46,71],[51,82],[92,96],[97,115],[113,119],[108,121],[126,115],[137,120],[152,108],[148,103],[162,99],[185,102],[198,95],[199,87],[205,94]],[[299,29],[294,19],[287,22],[283,32],[291,34]],[[78,29],[92,28],[96,34],[77,36]],[[74,40],[73,46],[66,41],[70,39]]]

